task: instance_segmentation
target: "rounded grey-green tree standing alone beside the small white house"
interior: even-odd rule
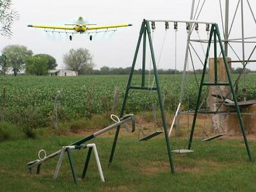
[[[77,71],[78,74],[92,73],[93,63],[92,54],[86,48],[70,49],[63,56],[63,62],[67,69]]]

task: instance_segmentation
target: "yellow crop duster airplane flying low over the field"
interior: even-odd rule
[[[70,27],[68,27],[70,26]],[[71,34],[69,36],[70,41],[72,40],[72,35],[76,33],[102,33],[108,31],[116,31],[116,28],[123,28],[132,26],[132,24],[120,24],[111,26],[96,26],[96,24],[87,24],[83,17],[79,17],[76,24],[65,24],[65,26],[38,26],[38,25],[28,25],[29,28],[44,28],[46,32],[52,33],[67,33]],[[52,29],[47,30],[47,29]],[[103,30],[102,30],[103,29]],[[72,31],[72,32],[68,32]],[[92,40],[92,35],[90,35],[90,40]]]

